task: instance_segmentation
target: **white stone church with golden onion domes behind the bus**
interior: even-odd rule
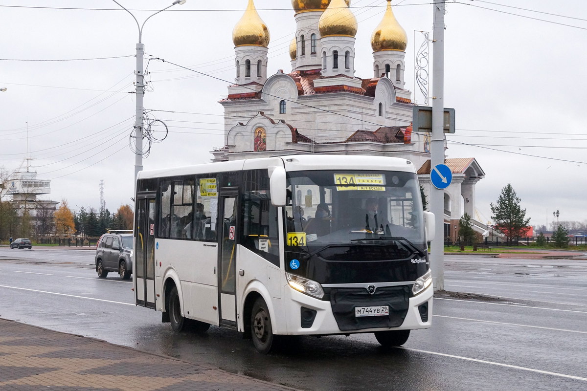
[[[285,1],[285,0],[284,0]],[[391,0],[373,30],[373,70],[357,77],[357,19],[350,0],[291,0],[296,32],[292,69],[268,74],[269,29],[248,0],[234,27],[235,83],[224,107],[224,142],[213,161],[291,154],[376,155],[408,159],[430,195],[430,137],[412,132],[411,91],[405,87],[407,34]],[[366,42],[359,42],[366,45]],[[453,183],[444,194],[444,236],[456,241],[467,212],[474,229],[475,184],[485,174],[474,158],[446,158]]]

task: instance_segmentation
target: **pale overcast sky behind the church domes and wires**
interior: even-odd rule
[[[161,9],[171,0],[120,0],[127,8]],[[475,157],[487,175],[477,184],[477,209],[490,219],[490,202],[512,183],[532,225],[587,220],[586,174],[587,2],[585,0],[459,0],[447,5],[445,101],[456,108],[457,133],[448,137],[450,158]],[[408,32],[406,88],[413,90],[414,30],[431,31],[429,0],[394,0]],[[356,75],[372,77],[370,35],[384,0],[353,0],[359,21]],[[472,4],[470,6],[467,4]],[[507,8],[497,4],[526,8]],[[0,58],[83,59],[132,56],[137,26],[124,11],[11,8],[107,8],[110,0],[0,0]],[[188,0],[154,16],[144,29],[148,55],[234,79],[232,28],[247,0]],[[255,0],[271,31],[269,74],[291,70],[288,46],[295,33],[289,0]],[[366,8],[366,6],[374,6]],[[562,23],[557,25],[531,18]],[[223,9],[228,11],[214,11]],[[173,10],[173,11],[172,11]],[[212,10],[212,11],[203,11]],[[139,21],[152,12],[137,11]],[[572,16],[565,18],[560,16]],[[75,62],[0,61],[0,165],[18,168],[26,154],[26,122],[33,169],[52,179],[50,199],[75,206],[130,202],[134,155],[126,147],[134,117],[134,57]],[[145,169],[208,162],[222,147],[222,107],[227,83],[158,61],[149,63],[152,91],[144,106],[170,127],[153,145]],[[528,157],[454,142],[481,145]]]

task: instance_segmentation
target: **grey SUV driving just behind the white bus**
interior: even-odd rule
[[[120,278],[128,280],[133,271],[133,235],[103,234],[96,246],[96,271],[100,278],[117,271]]]

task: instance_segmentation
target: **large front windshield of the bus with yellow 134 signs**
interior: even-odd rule
[[[289,251],[359,243],[396,243],[398,257],[424,249],[420,186],[400,171],[296,171],[288,173]],[[297,248],[297,249],[296,249]]]

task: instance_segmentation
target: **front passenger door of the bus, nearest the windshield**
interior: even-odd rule
[[[220,189],[218,287],[220,324],[237,327],[237,216],[238,188]]]

